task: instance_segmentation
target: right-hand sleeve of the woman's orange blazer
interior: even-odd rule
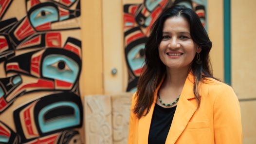
[[[241,114],[238,97],[225,85],[214,102],[215,144],[242,144]]]

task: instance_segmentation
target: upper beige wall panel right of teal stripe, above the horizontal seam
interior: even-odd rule
[[[256,98],[256,0],[231,0],[232,86],[239,98]]]

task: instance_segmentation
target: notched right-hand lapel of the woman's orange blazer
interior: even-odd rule
[[[183,86],[183,90],[181,92],[181,96],[178,101],[177,108],[165,144],[174,144],[177,141],[179,136],[182,134],[184,128],[187,126],[190,118],[197,109],[197,106],[189,101],[189,99],[195,98],[193,92],[193,85],[194,76],[191,72],[189,72]]]

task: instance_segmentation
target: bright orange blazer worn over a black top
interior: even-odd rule
[[[217,80],[208,79],[200,87],[201,105],[193,92],[194,76],[189,73],[165,144],[242,144],[242,126],[238,98],[234,90]],[[131,110],[128,144],[147,144],[152,114],[157,100],[146,116],[138,119]],[[131,109],[136,102],[132,98]]]

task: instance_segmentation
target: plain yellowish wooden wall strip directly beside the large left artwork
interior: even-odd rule
[[[81,94],[103,93],[102,1],[81,0]]]

